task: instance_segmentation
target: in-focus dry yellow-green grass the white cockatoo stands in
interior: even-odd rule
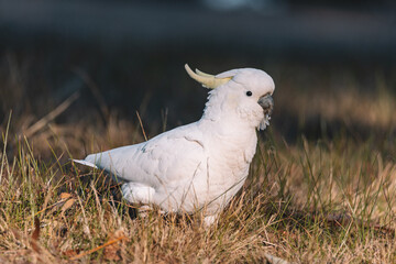
[[[23,138],[14,147],[1,156],[3,262],[396,261],[396,164],[370,142],[261,141],[249,183],[210,229],[199,213],[135,217],[101,172],[45,163]]]

